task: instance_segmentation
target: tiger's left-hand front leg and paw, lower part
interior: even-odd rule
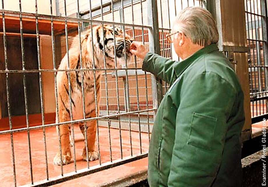
[[[68,115],[68,113],[67,113]],[[66,114],[61,114],[59,116],[59,121],[68,121],[68,117],[65,118]],[[62,164],[68,164],[71,161],[72,155],[71,155],[71,148],[70,148],[70,137],[69,137],[69,127],[70,124],[66,125],[60,125],[59,130],[60,130],[60,139],[61,139],[61,152],[60,152],[60,146],[58,149],[58,152],[56,156],[54,157],[54,165],[61,165],[61,154],[62,154]],[[58,127],[56,127],[58,128]],[[58,132],[58,129],[57,129]]]

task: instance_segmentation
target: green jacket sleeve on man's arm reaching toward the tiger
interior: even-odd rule
[[[154,53],[147,53],[142,64],[143,71],[149,71],[160,79],[163,79],[167,83],[173,82],[176,78],[174,75],[174,69],[172,64],[174,64],[174,60],[170,60],[165,57],[161,57],[160,55]]]

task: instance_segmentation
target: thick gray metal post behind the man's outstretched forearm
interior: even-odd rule
[[[152,53],[160,54],[159,46],[159,27],[158,27],[158,10],[157,1],[149,0],[147,1],[147,14],[148,14],[148,24],[152,26],[149,29],[149,49]],[[152,81],[152,97],[153,97],[153,107],[158,108],[163,97],[163,86],[162,81],[151,74]],[[154,117],[156,112],[154,113]]]

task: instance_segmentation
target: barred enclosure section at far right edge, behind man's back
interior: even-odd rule
[[[251,117],[267,114],[267,2],[245,0]],[[265,18],[266,15],[266,18]],[[261,119],[262,120],[262,119]]]

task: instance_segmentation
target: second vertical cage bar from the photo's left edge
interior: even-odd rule
[[[23,39],[23,26],[22,26],[22,9],[21,0],[19,0],[20,7],[20,42],[21,42],[21,53],[22,53],[22,70],[25,70],[25,58],[24,58],[24,39]],[[25,101],[25,115],[26,115],[26,125],[29,128],[29,116],[28,116],[28,100],[27,100],[27,89],[26,89],[26,76],[23,74],[23,88],[24,88],[24,101]],[[29,164],[31,172],[31,183],[34,184],[33,179],[33,168],[32,168],[32,158],[31,158],[31,141],[30,141],[30,131],[27,130],[28,137],[28,149],[29,149]]]

